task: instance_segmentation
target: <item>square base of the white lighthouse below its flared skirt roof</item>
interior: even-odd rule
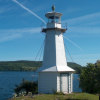
[[[71,72],[39,72],[38,93],[72,93],[73,74]]]

